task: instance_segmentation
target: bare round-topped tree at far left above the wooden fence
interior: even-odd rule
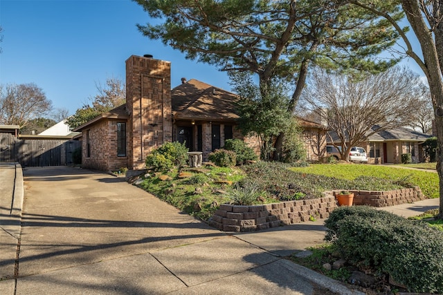
[[[51,109],[51,100],[33,83],[0,86],[0,124],[19,125],[22,129]]]

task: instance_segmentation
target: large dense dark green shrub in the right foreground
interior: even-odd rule
[[[327,238],[355,265],[389,274],[413,292],[443,292],[443,233],[370,207],[339,207]]]

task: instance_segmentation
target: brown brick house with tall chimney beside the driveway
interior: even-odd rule
[[[185,142],[190,151],[203,152],[203,160],[231,138],[244,140],[260,153],[258,137],[244,137],[237,127],[237,95],[196,79],[182,78],[171,89],[170,66],[170,61],[150,56],[127,59],[126,104],[74,130],[82,132],[84,168],[143,169],[146,155],[164,142],[175,141]],[[308,125],[308,137],[316,128],[325,137],[323,126]],[[311,158],[318,158],[314,154]]]

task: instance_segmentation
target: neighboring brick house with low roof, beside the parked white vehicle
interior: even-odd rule
[[[376,128],[376,127],[374,127]],[[368,137],[367,142],[359,144],[368,153],[370,164],[399,164],[401,155],[410,153],[414,163],[424,162],[422,144],[431,135],[419,133],[412,129],[399,127],[388,131],[380,131]],[[328,144],[340,144],[336,133],[328,131]]]

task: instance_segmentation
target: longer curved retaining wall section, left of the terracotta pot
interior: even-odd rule
[[[210,225],[221,231],[255,231],[308,221],[311,216],[327,218],[336,207],[334,196],[252,206],[221,204]]]

